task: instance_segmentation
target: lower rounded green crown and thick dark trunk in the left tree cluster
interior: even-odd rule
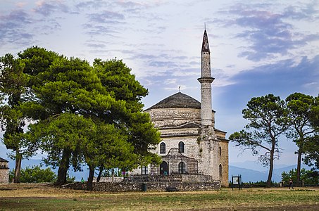
[[[81,170],[85,162],[82,146],[93,128],[94,123],[90,119],[73,113],[58,114],[30,125],[27,134],[30,139],[36,139],[42,151],[47,153],[44,162],[58,167],[57,185],[66,183],[70,166],[75,171]]]

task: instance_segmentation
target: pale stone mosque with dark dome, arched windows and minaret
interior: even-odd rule
[[[156,153],[162,163],[157,167],[139,167],[132,174],[188,174],[198,178],[204,175],[206,181],[220,181],[221,186],[228,186],[228,140],[226,132],[215,128],[215,111],[211,106],[213,80],[205,30],[198,79],[201,102],[178,92],[145,110],[161,132]]]

